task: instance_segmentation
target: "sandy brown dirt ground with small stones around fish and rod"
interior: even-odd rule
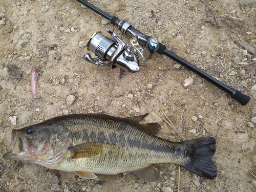
[[[163,55],[142,62],[140,73],[125,73],[121,79],[117,68],[108,70],[86,62],[83,55],[88,51],[79,47],[79,42],[87,42],[94,32],[109,36],[109,28],[126,42],[129,38],[76,1],[1,1],[1,157],[11,150],[12,129],[63,114],[128,117],[150,113],[143,123],[159,122],[159,137],[181,141],[156,110],[161,115],[163,111],[186,139],[217,138],[212,158],[218,167],[217,178],[205,180],[181,168],[180,188],[185,187],[180,191],[255,191],[256,68],[255,64],[234,66],[256,60],[235,42],[249,42],[256,48],[256,4],[239,2],[205,1],[207,7],[191,0],[91,1],[157,37],[169,50],[175,49],[177,55],[232,89],[249,95],[245,106],[188,70],[164,71],[184,68]],[[21,76],[8,70],[8,65]],[[34,67],[38,71],[37,99],[30,86]],[[184,87],[187,78],[193,83]],[[71,105],[66,101],[69,95],[76,97]],[[10,117],[16,117],[16,125]],[[84,180],[73,173],[1,158],[0,191],[177,191],[178,166],[155,166],[161,173],[158,182],[144,182],[131,174]]]

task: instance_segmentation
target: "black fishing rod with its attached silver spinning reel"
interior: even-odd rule
[[[151,59],[154,53],[157,52],[160,55],[164,54],[167,57],[175,60],[188,70],[196,73],[208,82],[214,84],[216,87],[229,94],[233,99],[236,99],[242,105],[245,105],[249,102],[249,96],[239,92],[238,90],[233,90],[232,88],[226,86],[226,84],[220,82],[216,78],[198,69],[196,66],[192,65],[188,61],[167,50],[166,46],[158,42],[156,38],[152,38],[141,33],[131,24],[125,22],[124,20],[119,20],[116,16],[109,15],[108,13],[102,11],[101,9],[95,7],[87,1],[77,1],[88,7],[89,9],[93,10],[94,12],[98,13],[105,19],[108,19],[110,23],[114,26],[117,26],[122,33],[131,37],[129,45],[127,45],[114,32],[109,29],[107,31],[111,34],[111,38],[105,37],[100,31],[94,33],[88,42],[87,49],[95,53],[95,55],[98,56],[100,60],[94,60],[92,59],[90,54],[86,54],[84,55],[84,59],[86,59],[87,61],[99,66],[111,68],[115,68],[118,66],[124,71],[128,70],[131,72],[138,72],[140,69],[138,54],[142,56],[143,60],[147,60]],[[118,46],[116,44],[118,44]],[[144,49],[141,48],[139,45],[142,45]],[[108,60],[107,63],[103,62],[106,60]]]

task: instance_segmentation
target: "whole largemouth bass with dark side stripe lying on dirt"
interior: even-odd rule
[[[214,138],[162,139],[156,136],[158,123],[139,123],[146,115],[64,115],[15,129],[12,151],[3,158],[75,172],[85,179],[131,172],[145,181],[158,181],[160,174],[152,165],[156,163],[175,163],[199,176],[216,177],[217,167],[210,159],[216,151]]]

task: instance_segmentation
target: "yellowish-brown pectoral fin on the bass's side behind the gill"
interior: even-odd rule
[[[69,148],[73,154],[72,159],[94,157],[101,153],[102,144],[97,142],[82,143]]]

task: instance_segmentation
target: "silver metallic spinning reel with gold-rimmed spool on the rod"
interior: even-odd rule
[[[106,31],[111,34],[111,38],[97,31],[87,43],[87,50],[93,52],[99,59],[93,59],[90,53],[83,56],[85,60],[97,66],[111,69],[119,67],[123,71],[139,72],[140,59],[138,54],[146,61],[151,59],[159,48],[159,42],[156,38],[148,38],[143,49],[135,37],[132,37],[129,44],[126,44],[110,29]]]

